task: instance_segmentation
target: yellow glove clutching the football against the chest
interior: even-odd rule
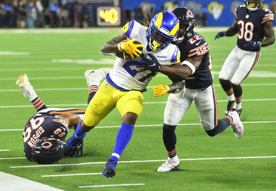
[[[142,54],[142,51],[138,50],[139,47],[143,48],[144,45],[142,44],[134,44],[133,42],[136,41],[135,39],[124,40],[118,44],[118,49],[121,52],[126,52],[130,54],[131,58],[134,59],[133,54],[138,57]]]

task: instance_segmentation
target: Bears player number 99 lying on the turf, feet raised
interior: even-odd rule
[[[110,68],[101,68],[85,72],[85,78],[89,85],[88,103],[97,92],[100,81],[105,78],[110,70]],[[47,108],[44,102],[37,96],[26,74],[20,75],[17,78],[16,84],[19,85],[24,96],[29,98],[37,110],[37,113],[26,123],[23,132],[26,158],[39,164],[57,162],[63,157],[62,147],[65,144],[64,139],[69,129],[71,127],[76,129],[76,126],[85,114],[85,110],[77,108]],[[80,156],[83,155],[83,137],[72,148],[72,152],[66,156],[78,157],[79,153]]]

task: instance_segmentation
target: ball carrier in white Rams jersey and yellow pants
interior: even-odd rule
[[[97,126],[117,107],[122,116],[122,126],[118,131],[113,153],[103,170],[103,175],[106,177],[115,175],[116,164],[131,139],[136,119],[143,109],[142,92],[146,91],[148,83],[157,73],[149,70],[139,73],[136,68],[140,64],[139,56],[145,58],[143,54],[152,54],[162,65],[179,63],[179,49],[171,44],[177,36],[178,29],[179,22],[176,16],[170,12],[161,12],[151,20],[150,28],[133,20],[122,28],[121,35],[101,47],[103,55],[115,55],[123,51],[132,58],[135,55],[136,58],[128,61],[116,58],[114,68],[106,75],[106,80],[90,101],[83,120],[67,141],[64,147],[65,153],[70,152],[84,133]],[[135,44],[134,41],[141,44]],[[139,51],[139,47],[143,47],[143,51]],[[173,83],[170,85],[170,92],[181,88],[184,88],[183,82]]]

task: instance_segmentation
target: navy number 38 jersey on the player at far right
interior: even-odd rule
[[[274,14],[269,9],[258,9],[249,13],[245,5],[237,7],[235,10],[235,18],[238,21],[238,40],[237,46],[246,51],[260,51],[260,48],[255,50],[247,50],[244,45],[248,41],[262,41],[264,39],[263,24],[267,21],[274,20]]]

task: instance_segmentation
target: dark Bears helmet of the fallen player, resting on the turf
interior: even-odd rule
[[[32,147],[32,160],[39,164],[50,164],[63,157],[62,147],[66,144],[64,138],[51,135],[37,139]]]

